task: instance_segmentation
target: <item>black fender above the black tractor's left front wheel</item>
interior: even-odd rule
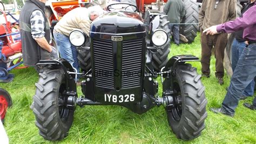
[[[75,72],[73,67],[70,65],[69,61],[63,58],[55,58],[55,59],[46,59],[40,60],[39,63],[36,64],[37,66],[41,67],[53,67],[53,68],[62,68],[65,73],[66,78],[66,88],[69,92],[73,91],[76,92],[76,82],[75,82],[75,74],[69,74],[69,72]]]

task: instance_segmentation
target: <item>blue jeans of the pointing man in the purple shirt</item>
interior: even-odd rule
[[[240,96],[256,76],[256,44],[245,47],[238,59],[222,108],[234,114]],[[254,99],[255,100],[255,99]]]

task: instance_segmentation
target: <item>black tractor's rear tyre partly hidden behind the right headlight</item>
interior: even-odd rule
[[[167,15],[160,15],[160,24],[158,26],[158,29],[165,30],[167,32],[167,35],[169,36],[169,39],[167,40],[167,43],[163,46],[161,46],[157,52],[152,52],[152,60],[151,64],[154,67],[154,70],[160,71],[162,67],[164,67],[168,61],[168,54],[170,53],[170,36],[171,31],[169,29],[169,21],[167,20]]]

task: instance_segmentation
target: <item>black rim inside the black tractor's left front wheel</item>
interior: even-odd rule
[[[59,117],[63,122],[68,120],[68,116],[69,116],[69,108],[66,107],[66,99],[63,96],[64,93],[66,93],[66,84],[65,83],[60,85],[59,94],[58,94],[59,95],[59,97],[58,97]]]

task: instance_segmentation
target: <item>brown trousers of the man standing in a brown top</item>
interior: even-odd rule
[[[212,55],[212,48],[214,46],[215,63],[215,77],[223,78],[224,76],[224,50],[227,45],[227,33],[220,33],[218,35],[206,35],[206,32],[201,31],[201,65],[202,73],[210,74],[210,61]]]

